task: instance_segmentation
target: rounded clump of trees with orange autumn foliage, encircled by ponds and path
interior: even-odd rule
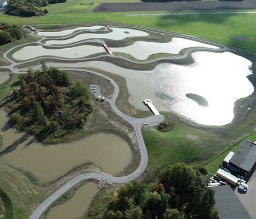
[[[39,140],[78,131],[93,110],[84,84],[44,63],[41,71],[20,74],[19,84],[9,104],[10,119],[16,128],[32,132]]]

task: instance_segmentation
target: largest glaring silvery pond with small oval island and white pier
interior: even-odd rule
[[[78,62],[50,66],[95,67],[126,78],[130,101],[147,110],[143,99],[151,99],[158,111],[173,111],[190,120],[205,125],[224,125],[234,118],[237,99],[253,93],[253,85],[247,76],[252,74],[251,61],[225,52],[193,53],[195,63],[188,66],[161,64],[152,71],[135,71],[107,62]],[[35,66],[39,68],[39,66]],[[239,89],[238,89],[239,88]],[[208,102],[198,104],[186,94],[194,94]]]

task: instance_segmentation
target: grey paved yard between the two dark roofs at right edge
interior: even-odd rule
[[[247,182],[247,185],[248,189],[246,193],[238,190],[237,188],[234,192],[243,204],[244,208],[248,211],[249,215],[251,215],[252,218],[256,218],[256,171],[254,171],[253,175]]]

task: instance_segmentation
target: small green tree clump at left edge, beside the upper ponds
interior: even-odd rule
[[[18,41],[23,34],[18,26],[7,23],[0,23],[0,45]]]

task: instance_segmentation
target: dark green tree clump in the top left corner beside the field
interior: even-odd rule
[[[9,0],[5,13],[15,16],[41,16],[48,13],[47,9],[41,7],[62,2],[66,0]]]

